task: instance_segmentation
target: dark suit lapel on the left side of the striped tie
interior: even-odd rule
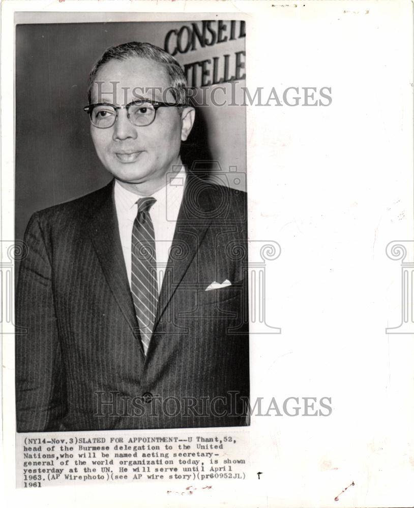
[[[89,234],[109,288],[132,332],[137,336],[138,324],[113,200],[113,181],[105,187],[105,190],[107,192],[104,193],[101,202],[91,210]]]

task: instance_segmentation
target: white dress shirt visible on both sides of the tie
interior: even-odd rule
[[[169,177],[167,185],[152,194],[152,197],[157,200],[150,209],[150,215],[153,221],[155,234],[158,294],[161,291],[169,250],[174,237],[175,225],[183,200],[185,181],[186,171],[183,167],[174,177],[172,177],[172,175]],[[138,211],[137,201],[141,197],[144,196],[138,196],[132,193],[130,190],[120,185],[118,181],[115,181],[114,198],[116,216],[118,219],[121,245],[130,286],[132,228]]]

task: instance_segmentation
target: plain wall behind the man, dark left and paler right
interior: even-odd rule
[[[198,25],[201,27],[201,21]],[[16,26],[15,232],[23,237],[36,210],[82,196],[105,185],[102,167],[82,107],[88,74],[109,46],[128,41],[164,47],[170,29],[184,22],[58,23]],[[187,22],[187,24],[189,24]],[[234,55],[245,39],[174,55],[182,64]],[[238,87],[244,86],[240,80]],[[229,84],[224,85],[229,90]],[[206,87],[211,88],[211,87]],[[218,94],[217,97],[221,96]],[[246,120],[243,106],[199,107],[193,132],[183,147],[183,162],[223,173],[246,172]],[[240,179],[239,179],[240,180]],[[245,189],[245,179],[229,184]],[[228,179],[224,177],[224,183]]]

